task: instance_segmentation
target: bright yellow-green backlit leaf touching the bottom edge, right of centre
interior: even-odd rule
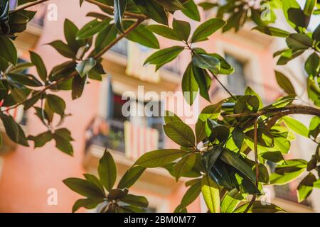
[[[238,189],[232,189],[230,192],[225,194],[221,201],[221,213],[233,213],[235,208],[243,199],[244,197]]]

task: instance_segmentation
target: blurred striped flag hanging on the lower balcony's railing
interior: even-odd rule
[[[126,156],[131,160],[151,150],[158,149],[159,132],[154,128],[124,122],[124,143]]]

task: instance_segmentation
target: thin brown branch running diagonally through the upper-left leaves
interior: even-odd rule
[[[126,31],[124,31],[124,33],[120,34],[116,39],[114,39],[112,41],[112,43],[110,43],[109,45],[107,45],[105,48],[103,48],[100,52],[97,53],[97,55],[94,55],[93,58],[95,60],[99,59],[100,57],[102,57],[102,55],[105,54],[105,52],[107,52],[108,50],[110,50],[110,48],[112,48],[112,46],[114,46],[117,42],[119,42],[119,40],[121,40],[122,38],[124,38],[128,33],[132,32],[134,30],[134,28],[137,28],[137,26],[139,26],[140,23],[142,23],[142,21],[144,21],[144,19],[138,19],[138,21],[134,24],[132,24],[132,26],[130,26],[129,28],[127,28]],[[34,94],[33,96],[31,96],[31,98],[26,99],[25,101],[22,101],[14,106],[9,107],[8,109],[6,109],[7,111],[10,109],[15,109],[16,107],[26,104],[27,101],[29,101],[30,99],[33,99],[35,96],[38,96],[40,94],[43,94],[46,92],[46,90],[51,89],[53,87],[55,87],[56,85],[65,82],[66,80],[75,77],[78,74],[77,71],[72,72],[71,74],[68,75],[68,77],[63,77],[61,79],[58,79],[57,81],[53,82],[52,84],[48,84],[46,87],[44,87],[42,90],[36,92],[36,94]]]

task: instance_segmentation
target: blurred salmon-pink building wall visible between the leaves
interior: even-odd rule
[[[82,9],[78,8],[78,0],[73,1],[53,1],[58,6],[58,21],[48,21],[41,33],[41,38],[34,48],[46,62],[48,68],[63,62],[63,57],[58,55],[53,48],[48,45],[52,40],[63,39],[63,21],[66,17],[71,21],[75,21],[78,26],[82,26],[88,19],[85,14],[89,11],[84,4]],[[77,5],[77,6],[75,6]],[[95,9],[94,6],[91,6]],[[193,23],[193,27],[195,23]],[[256,34],[257,35],[257,34]],[[253,36],[255,37],[255,36]],[[257,36],[258,39],[262,36]],[[265,42],[268,42],[265,45]],[[251,40],[247,33],[235,35],[228,33],[226,35],[216,34],[205,43],[201,43],[201,47],[206,48],[212,52],[219,52],[223,54],[225,51],[233,52],[237,57],[242,57],[245,60],[250,60],[249,76],[257,82],[254,84],[254,89],[259,89],[260,94],[264,94],[268,100],[273,100],[279,96],[278,92],[274,92],[267,87],[277,87],[274,72],[272,51],[270,48],[271,40],[263,36],[261,42]],[[28,40],[26,40],[28,42]],[[161,46],[168,46],[167,40],[161,39]],[[22,48],[23,49],[23,48]],[[21,49],[21,56],[28,58],[28,52]],[[108,55],[107,55],[108,56]],[[182,70],[190,60],[188,52],[183,57]],[[112,67],[113,65],[110,65]],[[107,69],[109,70],[109,69]],[[35,72],[33,70],[33,72]],[[225,82],[224,76],[220,78]],[[216,82],[213,82],[216,84]],[[43,148],[33,149],[32,144],[30,148],[18,148],[2,159],[2,167],[0,162],[0,211],[1,212],[70,212],[73,203],[76,199],[80,199],[78,194],[70,191],[63,184],[62,180],[67,177],[82,177],[82,173],[93,171],[85,169],[82,165],[84,159],[85,139],[84,132],[90,120],[99,114],[99,107],[101,105],[100,97],[100,82],[91,81],[85,87],[85,92],[80,99],[72,101],[70,99],[70,92],[59,92],[67,102],[66,113],[72,116],[65,119],[63,126],[70,129],[73,138],[74,157],[70,157],[58,151],[55,148],[54,142],[48,143]],[[156,87],[157,85],[150,85]],[[214,85],[215,86],[215,85]],[[214,87],[213,86],[213,87]],[[124,84],[125,87],[125,84]],[[176,86],[175,91],[180,90],[180,84]],[[225,96],[220,92],[218,96],[213,96],[213,103]],[[208,104],[207,101],[201,99],[201,107]],[[28,125],[26,126],[28,134],[35,135],[46,130],[38,118],[34,117],[33,111],[28,111]],[[168,141],[167,146],[172,147],[174,144]],[[1,171],[2,168],[2,171]],[[161,182],[159,182],[161,184]],[[137,194],[146,195],[150,201],[151,206],[159,204],[159,211],[174,211],[179,204],[181,197],[186,188],[183,182],[177,183],[177,187],[169,194],[157,193],[149,190],[147,184],[142,184],[141,187],[133,188]],[[48,205],[48,189],[57,189],[58,205]],[[85,211],[82,209],[82,211]],[[188,211],[201,211],[200,199],[197,199]]]

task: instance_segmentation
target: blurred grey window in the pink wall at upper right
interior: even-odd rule
[[[225,55],[225,60],[227,60],[230,65],[235,67],[235,72],[227,77],[228,89],[233,94],[243,94],[247,87],[245,63],[228,54]]]

